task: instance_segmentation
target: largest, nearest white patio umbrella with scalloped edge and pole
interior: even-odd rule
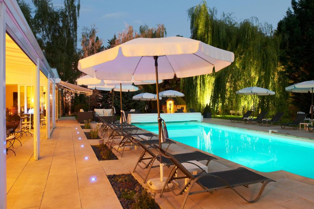
[[[79,60],[78,69],[91,76],[95,73],[98,79],[131,80],[133,75],[135,80],[156,80],[156,94],[159,95],[158,79],[172,79],[175,74],[178,78],[209,74],[214,67],[217,72],[233,61],[232,52],[189,38],[136,38]],[[161,148],[162,118],[159,108],[157,111]],[[163,182],[161,155],[159,160],[160,182]],[[150,182],[163,184],[155,179]]]

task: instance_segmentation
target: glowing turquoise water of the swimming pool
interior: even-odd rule
[[[158,134],[156,124],[134,124]],[[167,123],[169,138],[261,172],[314,179],[314,143],[199,122]]]

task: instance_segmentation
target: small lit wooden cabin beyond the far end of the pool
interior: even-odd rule
[[[187,112],[187,105],[182,97],[163,97],[160,100],[160,110],[164,113],[175,113],[177,109],[183,109],[183,112]]]

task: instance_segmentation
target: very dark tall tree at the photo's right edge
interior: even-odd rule
[[[280,38],[280,63],[290,85],[314,79],[314,1],[292,0],[291,8],[279,21],[276,31]],[[295,112],[309,111],[311,95],[291,93],[290,96]]]

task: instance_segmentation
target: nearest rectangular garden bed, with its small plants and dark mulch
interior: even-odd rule
[[[124,209],[159,209],[154,196],[143,188],[131,174],[107,175]]]

